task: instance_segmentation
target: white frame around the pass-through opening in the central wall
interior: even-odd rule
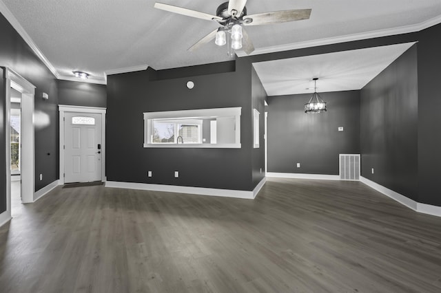
[[[242,107],[231,108],[214,108],[214,109],[196,109],[196,110],[180,110],[180,111],[160,111],[160,112],[144,112],[144,144],[145,148],[228,148],[240,149],[240,115]],[[198,118],[216,118],[216,117],[234,117],[235,122],[235,142],[231,144],[204,144],[204,143],[164,143],[152,142],[152,120],[154,119],[195,119]],[[201,127],[202,131],[202,127]],[[175,135],[176,136],[176,135]],[[177,137],[176,137],[177,138]],[[176,141],[176,140],[175,140]]]

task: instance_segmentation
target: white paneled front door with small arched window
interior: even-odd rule
[[[65,112],[65,183],[101,180],[101,145],[101,113]]]

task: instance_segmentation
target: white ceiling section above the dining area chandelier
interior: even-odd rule
[[[362,89],[413,43],[254,63],[268,96]]]

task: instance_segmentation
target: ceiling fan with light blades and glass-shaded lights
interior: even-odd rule
[[[254,45],[251,39],[249,39],[247,32],[243,29],[243,25],[267,25],[299,21],[301,19],[309,19],[311,15],[311,9],[281,10],[247,15],[245,3],[247,3],[247,0],[229,0],[220,4],[216,10],[216,15],[158,2],[154,4],[154,8],[187,15],[188,17],[196,17],[197,19],[216,21],[220,27],[204,36],[192,47],[189,47],[188,50],[194,51],[216,39],[216,45],[225,45],[225,43],[229,45],[229,42],[231,42],[232,50],[229,50],[230,45],[228,47],[229,54],[231,55],[234,50],[239,49],[242,49],[247,55],[254,51]]]

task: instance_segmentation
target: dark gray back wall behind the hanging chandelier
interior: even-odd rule
[[[328,111],[318,114],[305,113],[311,94],[268,97],[269,172],[338,175],[338,155],[360,153],[360,91],[320,96]]]

